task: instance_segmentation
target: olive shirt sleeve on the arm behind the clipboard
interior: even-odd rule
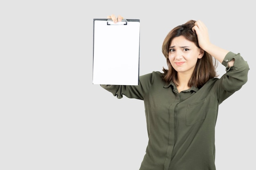
[[[146,75],[140,76],[139,85],[137,86],[103,84],[100,86],[112,93],[114,96],[117,96],[118,99],[123,98],[123,95],[125,95],[128,98],[144,100],[144,96],[152,84],[152,75],[152,73],[148,73]]]

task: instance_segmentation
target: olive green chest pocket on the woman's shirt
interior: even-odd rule
[[[196,124],[205,119],[206,98],[187,105],[186,108],[186,126]]]

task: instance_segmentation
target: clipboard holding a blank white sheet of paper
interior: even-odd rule
[[[140,20],[93,19],[93,84],[139,84]]]

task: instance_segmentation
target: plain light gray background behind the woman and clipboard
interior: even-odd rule
[[[166,34],[190,19],[207,25],[213,44],[241,53],[249,80],[220,105],[216,168],[255,168],[253,1],[2,0],[0,169],[139,169],[143,101],[92,84],[93,18],[112,13],[140,19],[140,75],[162,71]]]

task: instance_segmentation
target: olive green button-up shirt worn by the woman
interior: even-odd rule
[[[180,93],[161,72],[140,76],[138,86],[101,85],[117,98],[144,100],[148,146],[139,170],[216,170],[218,106],[247,82],[249,71],[240,53],[229,52],[222,65],[227,71],[222,77]]]

